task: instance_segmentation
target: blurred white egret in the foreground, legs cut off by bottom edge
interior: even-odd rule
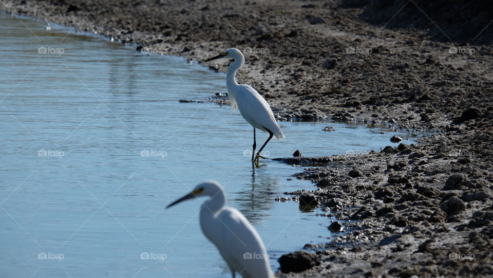
[[[255,228],[237,209],[225,207],[226,196],[216,181],[200,183],[195,189],[166,208],[196,197],[211,197],[200,209],[200,227],[216,245],[231,269],[243,277],[273,278],[269,256]]]

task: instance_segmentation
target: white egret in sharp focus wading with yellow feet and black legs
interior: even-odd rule
[[[258,162],[259,157],[266,159],[265,157],[260,156],[263,148],[272,139],[272,136],[275,136],[277,140],[280,140],[284,138],[284,134],[282,134],[281,128],[274,118],[274,113],[272,113],[269,103],[267,103],[267,101],[250,85],[236,83],[236,72],[245,62],[245,58],[243,57],[243,54],[241,54],[241,51],[236,48],[230,48],[224,51],[224,53],[209,58],[204,62],[221,58],[232,58],[235,60],[235,62],[227,68],[227,94],[230,97],[232,109],[238,107],[241,116],[253,126],[252,161]],[[255,141],[255,128],[258,128],[263,132],[268,132],[269,138],[263,143],[260,150],[258,150],[257,154],[254,156],[257,147],[257,142]]]

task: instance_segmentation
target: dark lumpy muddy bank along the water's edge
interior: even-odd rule
[[[493,276],[493,4],[4,0],[0,9],[191,60],[236,47],[247,60],[239,82],[281,120],[434,131],[419,145],[283,160],[319,166],[299,174],[317,190],[291,195],[347,233],[305,247],[316,255],[285,256],[281,270],[295,272],[277,275]]]

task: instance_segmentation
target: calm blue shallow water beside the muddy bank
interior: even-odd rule
[[[229,277],[200,231],[201,202],[164,209],[204,179],[249,218],[274,270],[280,255],[328,241],[333,219],[274,201],[314,189],[287,180],[302,168],[252,168],[252,127],[238,112],[178,102],[224,92],[225,75],[28,18],[0,21],[2,276]],[[394,134],[410,143],[378,126],[280,125],[287,138],[269,143],[269,157],[378,151]]]

